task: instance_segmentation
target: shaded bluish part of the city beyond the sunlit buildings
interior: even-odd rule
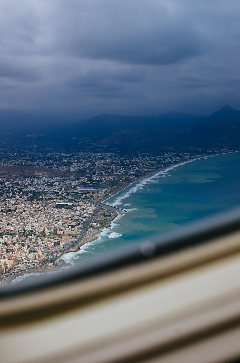
[[[22,198],[28,200],[62,200],[69,197],[73,191],[83,197],[95,198],[108,195],[112,189],[120,187],[123,183],[131,182],[146,172],[171,165],[196,155],[179,152],[164,152],[159,155],[146,153],[136,155],[117,155],[113,153],[56,153],[43,155],[5,154],[0,159],[3,167],[13,165],[15,169],[32,165],[47,167],[48,170],[64,171],[66,176],[41,175],[38,170],[35,175],[6,175],[4,169],[1,174],[0,167],[0,196],[8,198]],[[73,175],[71,172],[80,171],[85,175]],[[67,173],[69,172],[69,175]],[[9,172],[10,173],[10,172]]]

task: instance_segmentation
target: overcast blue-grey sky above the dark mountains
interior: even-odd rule
[[[1,0],[0,109],[240,109],[239,0]]]

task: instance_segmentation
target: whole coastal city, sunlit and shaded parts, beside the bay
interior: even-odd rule
[[[211,150],[209,152],[212,152]],[[196,152],[119,155],[3,154],[0,163],[0,282],[64,265],[63,253],[96,238],[117,215],[104,199]]]

